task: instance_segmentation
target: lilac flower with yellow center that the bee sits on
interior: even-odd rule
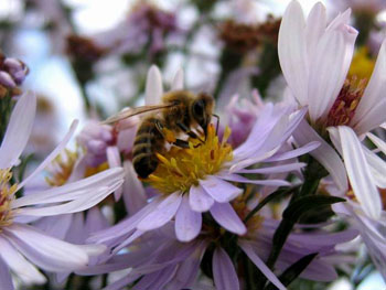
[[[182,84],[176,83],[179,85],[174,87],[181,88]],[[147,104],[160,103],[162,92],[161,74],[157,67],[152,67],[148,78]],[[90,240],[105,243],[118,251],[143,233],[160,228],[174,218],[178,239],[190,241],[199,235],[202,214],[205,212],[210,212],[225,229],[244,235],[246,227],[229,204],[243,190],[233,182],[289,185],[281,179],[247,179],[242,173],[269,174],[302,168],[303,164],[298,162],[286,165],[271,162],[293,159],[319,146],[318,142],[311,142],[296,150],[280,151],[303,119],[304,112],[302,109],[290,115],[286,107],[267,104],[246,141],[235,150],[227,143],[230,131],[225,130],[223,140],[219,140],[211,125],[206,140],[199,147],[191,142],[187,149],[172,147],[163,155],[158,154],[158,169],[146,181],[160,194],[137,214],[97,233]],[[246,169],[257,163],[267,165]]]

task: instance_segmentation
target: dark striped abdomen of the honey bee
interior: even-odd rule
[[[158,167],[157,152],[163,149],[164,139],[157,128],[160,119],[149,117],[139,126],[133,146],[132,164],[137,174],[146,179]]]

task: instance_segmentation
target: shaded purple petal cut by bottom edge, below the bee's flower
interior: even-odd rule
[[[213,254],[212,260],[213,280],[216,289],[237,290],[240,289],[235,266],[228,254],[217,247]]]

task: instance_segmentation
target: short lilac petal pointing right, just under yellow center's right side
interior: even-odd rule
[[[200,180],[200,185],[218,203],[227,203],[243,193],[242,189],[214,175]]]

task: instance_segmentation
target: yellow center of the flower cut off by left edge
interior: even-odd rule
[[[12,173],[9,169],[0,170],[0,232],[3,226],[9,226],[12,223],[11,202],[14,198],[18,184],[9,186],[11,178]]]

